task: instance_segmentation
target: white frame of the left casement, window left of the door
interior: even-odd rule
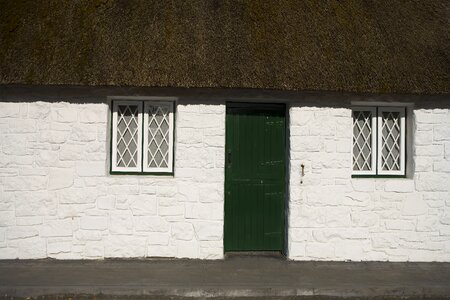
[[[136,167],[117,166],[117,122],[119,105],[137,105],[138,107],[138,143]],[[112,111],[112,148],[111,171],[113,172],[141,172],[142,170],[142,101],[114,101]]]

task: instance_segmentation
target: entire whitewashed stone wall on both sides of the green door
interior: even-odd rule
[[[224,103],[178,104],[155,177],[108,174],[105,103],[0,102],[0,259],[222,258]],[[411,178],[351,179],[350,110],[296,103],[289,258],[450,261],[449,110],[414,111]]]

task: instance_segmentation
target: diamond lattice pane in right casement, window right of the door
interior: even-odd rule
[[[401,125],[400,112],[383,111],[381,114],[381,169],[400,170]]]

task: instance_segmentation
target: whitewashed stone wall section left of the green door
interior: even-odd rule
[[[108,113],[0,102],[0,259],[222,258],[225,106],[177,106],[175,177],[109,175]]]

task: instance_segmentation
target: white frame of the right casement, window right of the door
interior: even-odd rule
[[[380,134],[378,134],[378,145],[380,148],[379,153],[377,153],[377,169],[378,175],[405,175],[405,161],[406,161],[406,121],[405,121],[405,111],[406,107],[378,107],[378,126],[377,130]],[[383,112],[398,112],[400,113],[400,170],[383,170],[382,169],[382,114]]]

